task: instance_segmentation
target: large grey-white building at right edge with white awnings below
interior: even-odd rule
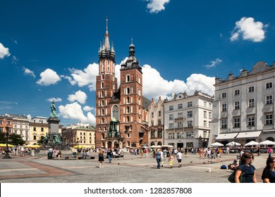
[[[240,76],[216,77],[212,129],[209,144],[236,141],[274,141],[275,63],[258,62]]]

